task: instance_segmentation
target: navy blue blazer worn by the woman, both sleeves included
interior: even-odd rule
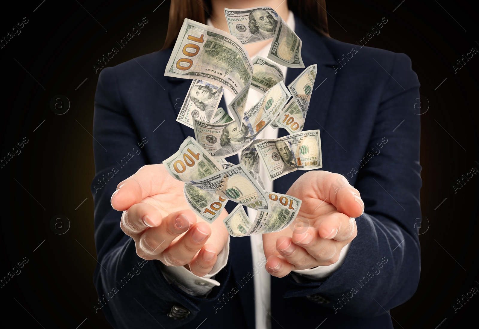
[[[304,130],[319,129],[324,165],[357,188],[365,212],[342,267],[321,281],[298,283],[290,274],[272,277],[273,328],[393,328],[388,310],[416,291],[421,269],[420,116],[417,75],[402,53],[360,47],[319,36],[297,20],[306,67],[318,64]],[[112,209],[116,185],[148,164],[176,152],[190,129],[175,121],[190,80],[165,77],[171,49],[104,68],[95,95],[93,141],[95,243],[94,283],[114,328],[254,328],[250,238],[231,238],[221,283],[206,297],[168,284],[156,260],[137,256]],[[289,68],[286,85],[303,69]],[[224,100],[222,106],[225,108]],[[279,136],[287,135],[281,129]],[[305,173],[274,181],[285,193]],[[229,202],[229,206],[236,205]],[[100,265],[101,264],[101,265]],[[187,317],[168,317],[173,306]],[[174,312],[173,312],[174,313]],[[324,321],[324,322],[322,322]]]

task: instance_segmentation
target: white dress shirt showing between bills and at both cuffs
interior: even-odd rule
[[[213,26],[211,24],[210,19],[208,19],[207,24],[209,26]],[[293,12],[289,12],[288,19],[286,20],[286,24],[294,31],[295,29],[295,18]],[[304,42],[304,41],[303,41]],[[258,53],[258,56],[263,58],[268,57],[268,51],[271,46],[271,41],[267,43]],[[256,56],[256,55],[255,55]],[[254,57],[254,56],[253,56]],[[283,74],[286,79],[287,68],[281,64],[276,65],[283,71]],[[250,89],[248,94],[248,100],[246,102],[246,108],[251,108],[255,105],[262,97],[262,93]],[[225,91],[223,94],[225,97],[225,103],[229,104],[234,95],[231,94],[229,91]],[[228,114],[232,117],[229,109],[225,109],[228,111]],[[233,118],[233,117],[232,117]],[[271,126],[267,126],[263,129],[257,137],[258,139],[274,139],[278,138],[278,129],[273,129]],[[240,154],[238,154],[238,157]],[[267,176],[266,170],[262,168],[260,165],[260,176],[262,182],[264,184],[264,189],[266,191],[273,191],[273,182],[270,182]],[[253,222],[256,217],[256,210],[251,208],[247,208],[248,217]],[[238,239],[238,238],[237,238]],[[241,238],[239,238],[241,239]],[[297,273],[309,280],[321,280],[327,278],[331,275],[335,270],[337,270],[342,263],[344,262],[344,258],[347,255],[349,249],[349,244],[342,248],[340,259],[335,264],[329,266],[318,266],[314,269],[308,270],[295,270],[294,273]],[[225,248],[218,254],[217,263],[213,267],[210,273],[205,275],[204,277],[199,277],[194,275],[192,272],[184,268],[183,266],[179,267],[171,267],[166,265],[161,265],[161,270],[163,276],[169,283],[174,283],[184,292],[191,294],[191,295],[205,295],[208,294],[214,286],[219,286],[220,283],[214,280],[214,276],[226,265],[228,262],[228,253],[229,253],[229,237],[228,243]],[[270,329],[271,328],[271,277],[270,274],[264,269],[264,261],[262,258],[264,257],[263,251],[263,241],[262,235],[251,235],[251,254],[252,254],[252,265],[258,268],[257,264],[263,263],[262,267],[259,270],[259,273],[254,275],[254,298],[257,301],[255,305],[255,322],[257,329]],[[300,279],[295,277],[295,280],[298,282]]]

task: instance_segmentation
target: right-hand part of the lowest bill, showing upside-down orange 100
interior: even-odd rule
[[[268,211],[258,212],[248,235],[279,232],[296,219],[301,200],[290,195],[266,192]]]

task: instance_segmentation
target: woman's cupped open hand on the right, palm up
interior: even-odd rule
[[[263,235],[266,270],[281,278],[292,270],[336,263],[356,237],[354,218],[364,212],[358,190],[342,175],[309,171],[286,194],[302,200],[301,209],[288,228]]]

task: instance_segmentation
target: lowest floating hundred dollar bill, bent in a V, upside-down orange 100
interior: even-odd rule
[[[266,192],[269,210],[258,212],[253,222],[241,205],[223,220],[229,235],[234,237],[274,233],[285,229],[297,217],[301,200],[289,195]]]

